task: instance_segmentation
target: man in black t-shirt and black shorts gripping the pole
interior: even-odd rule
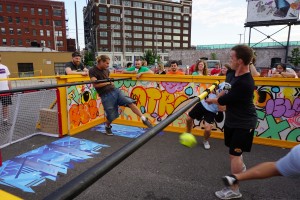
[[[257,123],[256,109],[253,104],[255,85],[249,71],[252,58],[253,51],[250,47],[234,46],[230,51],[232,71],[230,70],[226,74],[226,82],[230,83],[231,90],[219,98],[206,100],[207,103],[226,105],[224,141],[225,145],[229,147],[232,174],[246,170],[242,153],[251,151]],[[220,199],[242,197],[238,185],[226,187],[215,194]]]

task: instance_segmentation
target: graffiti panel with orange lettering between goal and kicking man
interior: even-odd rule
[[[92,84],[68,87],[67,95],[70,129],[103,117],[101,99]]]

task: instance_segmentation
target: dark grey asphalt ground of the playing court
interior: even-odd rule
[[[211,139],[211,149],[205,150],[202,138],[198,145],[187,148],[179,144],[178,133],[158,134],[126,160],[91,185],[76,200],[196,200],[217,199],[215,191],[222,189],[221,177],[230,173],[228,149],[223,140]],[[82,163],[76,163],[67,174],[60,174],[56,181],[47,180],[33,187],[35,193],[0,185],[0,189],[23,199],[43,199],[85,170],[132,141],[120,136],[106,136],[97,131],[85,131],[72,137],[84,138],[110,148]],[[3,160],[49,144],[57,138],[34,136],[2,149]],[[289,149],[253,145],[252,152],[244,154],[247,168],[264,161],[275,161]],[[300,179],[274,177],[241,183],[242,199],[300,199]]]

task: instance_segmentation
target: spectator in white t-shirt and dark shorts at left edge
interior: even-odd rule
[[[1,64],[1,54],[0,54],[0,78],[9,78],[10,72],[8,67]],[[0,90],[11,90],[11,82],[8,80],[0,81]],[[0,100],[2,103],[2,123],[3,125],[8,125],[8,106],[12,104],[10,95],[0,95]]]

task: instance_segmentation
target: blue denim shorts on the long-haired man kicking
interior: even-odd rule
[[[104,107],[106,118],[109,122],[119,117],[119,106],[127,106],[135,101],[119,89],[114,89],[111,92],[100,95]]]

